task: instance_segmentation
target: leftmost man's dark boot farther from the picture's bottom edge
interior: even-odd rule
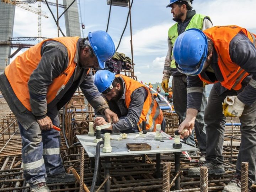
[[[73,174],[67,174],[66,171],[56,175],[46,177],[46,183],[68,183],[75,182],[76,179]]]

